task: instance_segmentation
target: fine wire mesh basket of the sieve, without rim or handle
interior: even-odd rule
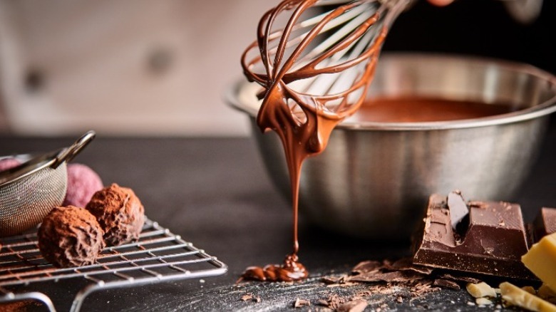
[[[0,187],[0,236],[21,233],[41,223],[66,196],[66,162],[44,167]]]

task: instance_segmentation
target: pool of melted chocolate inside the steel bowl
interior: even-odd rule
[[[483,118],[511,113],[518,108],[440,98],[376,98],[368,100],[350,118],[351,122],[421,123]]]

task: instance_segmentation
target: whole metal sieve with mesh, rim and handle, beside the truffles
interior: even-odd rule
[[[32,157],[0,172],[0,236],[36,227],[66,196],[66,162],[95,137],[88,131],[71,146]]]

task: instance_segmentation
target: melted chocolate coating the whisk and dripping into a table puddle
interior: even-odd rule
[[[324,57],[314,58],[307,63],[307,65],[289,72],[297,61],[297,58],[301,57],[304,48],[307,48],[309,43],[319,34],[319,31],[309,32],[307,37],[299,43],[298,49],[294,51],[287,60],[282,59],[284,57],[284,50],[287,46],[286,40],[283,41],[284,44],[280,42],[274,55],[274,62],[271,63],[272,61],[269,57],[271,55],[268,53],[268,43],[269,41],[276,40],[277,33],[270,33],[269,28],[272,23],[274,23],[274,19],[276,19],[281,11],[292,9],[294,6],[297,6],[297,10],[295,10],[292,15],[292,19],[297,21],[304,9],[309,8],[315,2],[316,0],[285,0],[275,9],[267,12],[259,23],[259,40],[252,43],[242,56],[242,65],[247,78],[257,81],[257,83],[263,85],[266,89],[263,103],[257,115],[257,125],[259,125],[259,128],[264,132],[269,130],[277,132],[284,147],[292,187],[294,248],[292,254],[286,256],[283,264],[269,264],[264,267],[251,266],[244,271],[240,280],[297,281],[305,279],[309,275],[307,269],[299,263],[297,256],[299,251],[297,236],[299,177],[302,164],[307,157],[316,155],[324,150],[329,140],[329,135],[334,127],[340,123],[341,120],[353,114],[363,102],[366,90],[369,87],[374,73],[381,44],[386,37],[386,26],[384,26],[378,32],[376,39],[371,45],[360,53],[359,56],[356,56],[356,58],[351,58],[349,61],[333,66],[326,67],[325,65],[318,69],[317,66],[321,65],[321,61]],[[340,6],[338,9],[331,11],[324,21],[319,24],[324,25],[331,19],[344,14],[346,11],[353,9],[354,6],[359,4],[361,4],[360,1],[355,1],[354,3]],[[350,33],[349,36],[346,36],[338,43],[338,46],[340,46],[340,48],[341,46],[349,46],[351,43],[361,38],[371,26],[376,24],[378,19],[378,14],[371,16],[364,24],[361,24],[361,26]],[[264,21],[267,21],[267,23],[264,23]],[[314,28],[318,27],[319,25]],[[291,32],[292,28],[286,27],[280,37],[289,38]],[[251,61],[246,61],[247,52],[253,48],[257,48],[257,46],[261,51],[261,56]],[[335,53],[333,50],[338,46],[331,48],[330,53],[326,51],[326,57]],[[326,96],[313,96],[305,93],[298,93],[287,85],[295,80],[312,78],[323,73],[338,73],[365,61],[367,63],[365,64],[364,70],[361,71],[359,78],[354,81],[348,90],[344,90],[344,92],[341,93]],[[257,62],[264,63],[267,69],[266,75],[253,73],[251,71],[251,67]],[[354,102],[352,99],[350,103],[348,103],[347,95],[356,90],[362,91],[361,96],[355,103],[352,103]],[[340,100],[340,104],[335,105],[334,110],[327,108],[326,103],[334,100]],[[292,102],[296,105],[290,106]],[[301,110],[299,110],[299,108]]]

